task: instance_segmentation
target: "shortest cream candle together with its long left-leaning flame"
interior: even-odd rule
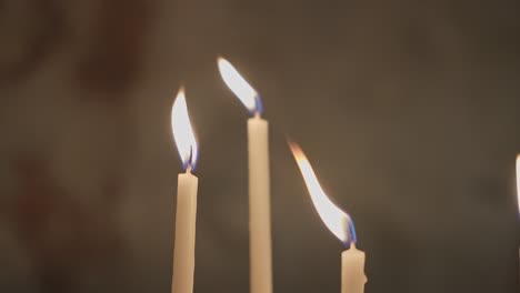
[[[367,283],[364,252],[356,247],[357,236],[352,219],[336,206],[323,192],[301,148],[296,143],[289,143],[289,146],[321,220],[346,246],[350,245],[350,249],[341,253],[341,293],[362,293]]]

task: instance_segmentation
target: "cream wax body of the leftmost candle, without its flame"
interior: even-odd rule
[[[172,293],[193,292],[197,186],[197,176],[179,174]]]

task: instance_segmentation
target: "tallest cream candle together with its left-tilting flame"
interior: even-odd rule
[[[249,257],[251,293],[272,292],[269,124],[261,118],[257,91],[223,58],[218,60],[226,84],[253,115],[248,120]]]

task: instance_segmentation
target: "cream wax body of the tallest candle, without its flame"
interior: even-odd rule
[[[269,124],[248,121],[249,256],[251,293],[272,292]]]

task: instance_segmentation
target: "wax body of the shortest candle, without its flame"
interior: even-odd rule
[[[341,293],[363,293],[366,283],[364,252],[351,244],[341,253]]]

